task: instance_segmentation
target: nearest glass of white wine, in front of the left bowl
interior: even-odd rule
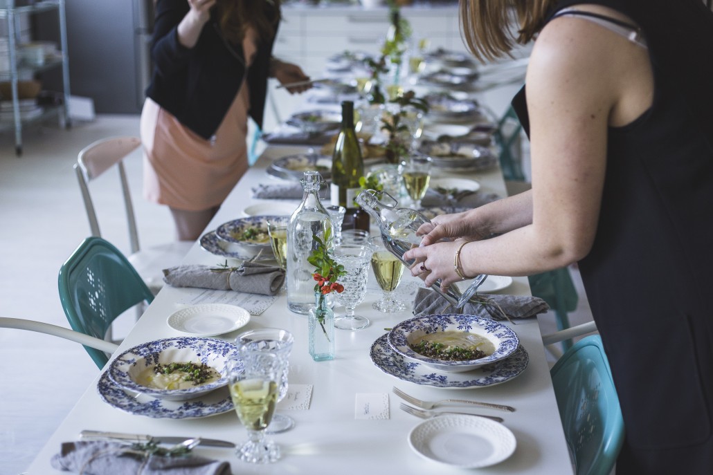
[[[272,353],[240,351],[227,365],[230,397],[237,417],[247,429],[247,442],[235,454],[251,464],[279,459],[279,447],[265,439],[265,429],[275,413],[282,362]]]

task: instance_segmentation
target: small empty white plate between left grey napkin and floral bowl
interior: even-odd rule
[[[235,331],[249,321],[250,313],[245,308],[225,303],[202,303],[175,311],[166,323],[183,333],[215,336]]]

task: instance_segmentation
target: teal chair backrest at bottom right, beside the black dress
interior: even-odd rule
[[[577,475],[608,475],[624,442],[624,421],[602,339],[575,343],[550,370]]]

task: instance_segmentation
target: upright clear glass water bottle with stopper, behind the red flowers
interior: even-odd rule
[[[319,172],[304,172],[302,203],[287,226],[287,308],[302,315],[307,315],[314,306],[314,266],[307,261],[312,250],[317,249],[314,236],[326,242],[332,234],[332,220],[319,201],[323,184]]]

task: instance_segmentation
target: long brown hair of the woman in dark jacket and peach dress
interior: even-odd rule
[[[215,9],[220,31],[231,43],[240,43],[248,26],[268,41],[281,19],[279,0],[217,0]]]

